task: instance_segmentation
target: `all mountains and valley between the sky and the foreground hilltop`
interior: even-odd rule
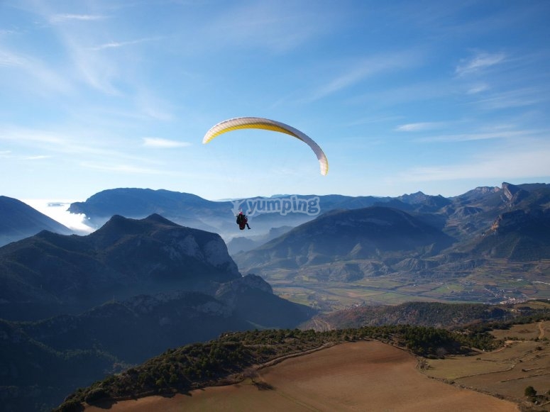
[[[241,233],[233,201],[110,189],[70,206],[98,226],[84,236],[1,197],[0,234],[16,233],[0,247],[4,406],[49,408],[75,385],[229,330],[399,324],[419,313],[434,323],[433,304],[365,301],[550,297],[548,184],[451,198],[292,196],[317,198],[319,214],[264,209]]]

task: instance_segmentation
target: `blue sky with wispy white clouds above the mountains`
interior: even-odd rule
[[[0,194],[550,182],[549,1],[0,1]],[[202,145],[238,116],[287,123]]]

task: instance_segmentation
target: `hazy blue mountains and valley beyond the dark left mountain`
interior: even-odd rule
[[[237,230],[236,204],[280,199],[317,199],[319,215],[267,213],[264,208],[251,218],[253,230]],[[467,277],[488,267],[544,274],[550,256],[549,205],[549,184],[502,183],[450,198],[417,192],[395,198],[285,195],[207,201],[166,190],[109,189],[69,210],[96,223],[160,213],[189,227],[206,227],[220,233],[241,272],[270,282],[297,282],[304,277]],[[495,260],[524,262],[524,267],[499,262],[495,268]]]

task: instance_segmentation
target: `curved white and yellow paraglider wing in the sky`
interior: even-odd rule
[[[319,160],[319,167],[321,168],[321,174],[325,175],[329,172],[329,160],[326,159],[323,150],[319,147],[319,145],[317,145],[317,143],[314,142],[314,140],[312,140],[312,138],[309,138],[309,136],[305,133],[302,133],[292,126],[288,126],[285,123],[280,123],[268,118],[237,117],[222,121],[207,131],[207,134],[204,135],[204,138],[202,139],[202,143],[209,143],[209,141],[214,139],[216,136],[238,129],[273,130],[275,132],[286,133],[287,135],[291,135],[299,140],[302,140],[302,142],[311,147],[317,156],[317,160]]]

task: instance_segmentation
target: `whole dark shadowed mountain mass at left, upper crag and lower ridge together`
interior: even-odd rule
[[[316,311],[243,277],[216,233],[158,214],[85,236],[43,230],[0,247],[4,410],[48,410],[77,386],[167,347],[295,328]]]

